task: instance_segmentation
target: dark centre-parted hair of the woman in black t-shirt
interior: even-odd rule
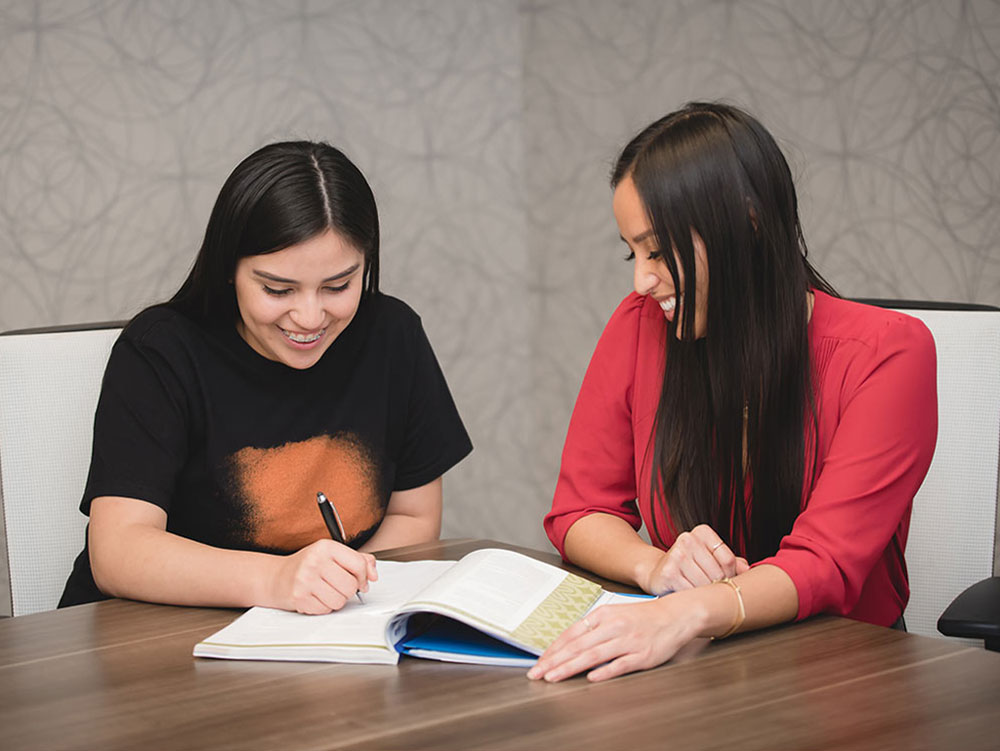
[[[229,175],[191,273],[165,303],[195,320],[235,322],[231,283],[246,256],[274,253],[326,230],[364,255],[362,294],[378,291],[375,196],[361,171],[327,143],[284,141],[258,149]]]

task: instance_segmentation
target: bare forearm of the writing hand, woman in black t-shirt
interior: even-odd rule
[[[91,566],[105,594],[148,602],[213,607],[280,607],[271,591],[281,558],[225,550],[165,530],[132,525],[90,542]]]

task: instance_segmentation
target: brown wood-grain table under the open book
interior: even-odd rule
[[[485,546],[519,549],[459,540],[387,557]],[[111,600],[0,621],[0,749],[1000,745],[1000,654],[841,618],[733,637],[603,684],[549,685],[517,668],[406,658],[191,656],[235,615]]]

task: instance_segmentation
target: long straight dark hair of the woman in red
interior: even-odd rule
[[[693,102],[657,120],[624,148],[612,186],[629,176],[675,289],[678,264],[685,279],[648,447],[651,532],[662,542],[661,521],[675,533],[706,523],[760,560],[791,530],[815,469],[807,292],[835,292],[806,258],[788,163],[747,113]],[[692,231],[710,284],[700,340]]]

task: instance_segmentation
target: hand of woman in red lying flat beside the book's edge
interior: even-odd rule
[[[531,679],[561,681],[584,670],[603,681],[660,665],[698,636],[691,608],[678,594],[658,600],[605,605],[566,629],[528,671]]]

